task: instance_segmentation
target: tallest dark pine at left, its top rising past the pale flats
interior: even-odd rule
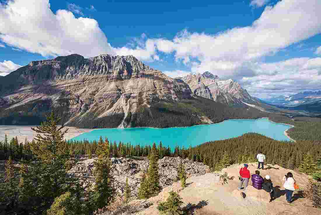
[[[31,128],[36,132],[34,139],[37,142],[32,141],[31,148],[38,162],[32,164],[32,172],[28,175],[32,177],[30,180],[37,182],[34,185],[37,187],[39,210],[44,210],[46,204],[64,193],[71,182],[76,180],[67,174],[69,155],[65,150],[64,135],[68,129],[63,130],[64,125],[58,127],[59,121],[60,118],[51,112],[46,122]]]

